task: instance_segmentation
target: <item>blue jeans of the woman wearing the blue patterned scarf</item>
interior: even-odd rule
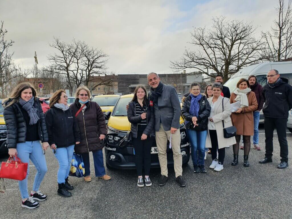
[[[191,143],[193,165],[204,165],[207,130],[195,131],[192,129],[187,129],[187,136],[189,137]]]

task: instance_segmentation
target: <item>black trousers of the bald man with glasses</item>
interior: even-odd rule
[[[288,162],[288,142],[286,138],[286,128],[287,128],[287,119],[278,119],[265,117],[265,136],[266,136],[266,153],[267,158],[273,156],[273,133],[274,129],[277,130],[278,140],[280,144],[280,157],[281,161]]]

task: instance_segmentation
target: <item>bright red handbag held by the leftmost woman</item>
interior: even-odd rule
[[[2,162],[0,169],[0,178],[24,180],[27,174],[28,163],[23,163],[15,156],[15,161],[9,157],[7,162]],[[18,161],[16,161],[18,160]]]

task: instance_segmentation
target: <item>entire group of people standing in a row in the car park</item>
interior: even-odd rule
[[[288,111],[292,108],[292,87],[285,79],[280,78],[277,70],[272,69],[268,72],[268,83],[264,88],[257,83],[254,75],[248,80],[240,79],[231,95],[229,89],[222,85],[223,80],[220,75],[216,76],[214,84],[206,87],[205,94],[201,93],[199,84],[193,83],[190,93],[185,95],[182,107],[175,88],[164,85],[158,74],[151,72],[147,75],[147,80],[151,87],[148,95],[144,86],[137,86],[133,100],[127,106],[139,187],[143,187],[144,182],[146,186],[152,185],[150,166],[154,138],[161,168],[159,185],[166,185],[168,180],[167,142],[169,141],[173,151],[176,181],[181,187],[186,186],[182,175],[180,152],[181,115],[191,143],[195,173],[206,173],[204,164],[206,148],[211,148],[212,154],[209,168],[221,171],[225,147],[230,145],[233,145],[234,153],[231,165],[238,164],[239,148],[242,148],[244,166],[248,167],[251,135],[253,135],[254,148],[260,150],[258,124],[259,112],[262,108],[265,116],[266,153],[265,158],[259,163],[272,162],[273,131],[276,128],[281,148],[281,163],[277,168],[288,166],[286,125]],[[89,152],[93,152],[95,176],[103,180],[111,179],[105,173],[103,166],[102,148],[107,129],[102,110],[97,103],[89,101],[90,91],[87,87],[79,87],[75,96],[74,104],[68,106],[65,91],[56,91],[50,99],[50,109],[44,114],[41,100],[36,97],[33,86],[29,83],[20,83],[11,96],[3,101],[8,153],[11,157],[19,157],[25,163],[30,159],[37,170],[30,194],[27,189],[29,167],[26,178],[19,181],[22,207],[36,208],[39,206],[38,201],[47,199],[47,196],[39,191],[39,187],[47,172],[43,150],[47,150],[48,147],[51,147],[59,163],[57,193],[60,196],[69,197],[72,195],[69,190],[74,189],[68,182],[74,151],[83,157],[86,182],[91,181]],[[240,107],[232,112],[231,104],[234,102],[239,102]],[[231,126],[236,127],[236,136],[225,138],[224,128]],[[240,146],[241,135],[243,145]]]

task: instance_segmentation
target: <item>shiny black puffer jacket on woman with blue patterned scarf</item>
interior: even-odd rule
[[[182,116],[185,119],[185,121],[190,121],[187,123],[186,128],[190,128],[190,125],[192,124],[192,117],[193,115],[190,114],[190,107],[191,107],[191,96],[189,95],[185,101],[183,102],[182,106]],[[208,128],[208,117],[210,116],[211,112],[211,106],[207,100],[207,98],[202,95],[202,98],[200,100],[200,109],[199,109],[199,116],[197,117],[198,121],[197,124],[202,124],[202,131],[207,130]]]

